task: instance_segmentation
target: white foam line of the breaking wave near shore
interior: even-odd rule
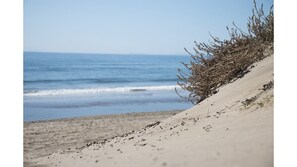
[[[87,88],[87,89],[55,89],[28,92],[24,96],[61,96],[61,95],[81,95],[81,94],[103,94],[103,93],[125,93],[136,91],[162,91],[174,90],[177,85],[163,86],[142,86],[142,87],[115,87],[115,88]]]

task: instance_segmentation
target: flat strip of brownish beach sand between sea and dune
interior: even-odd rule
[[[24,166],[32,166],[32,160],[53,152],[140,130],[181,111],[133,112],[24,122]]]

